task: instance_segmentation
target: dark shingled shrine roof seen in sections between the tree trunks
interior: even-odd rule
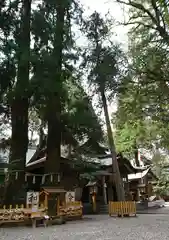
[[[76,153],[76,151],[78,152],[78,154],[82,154],[84,156],[89,157],[89,159],[92,159],[92,158],[93,159],[95,158],[95,159],[93,161],[92,160],[82,161],[79,159],[78,160],[75,159],[73,157],[73,154],[71,159],[68,157],[68,154],[64,154],[65,156],[67,155],[67,157],[63,157],[63,156],[61,157],[61,165],[62,166],[69,165],[70,168],[77,169],[79,172],[93,171],[95,169],[97,170],[109,169],[110,172],[112,171],[111,161],[109,165],[104,164],[101,161],[106,158],[111,158],[111,154],[106,153],[108,152],[108,149],[106,147],[101,146],[99,143],[94,142],[92,139],[89,139],[87,142],[85,142],[81,146],[78,146],[78,148],[76,148],[74,152]],[[43,167],[44,162],[46,160],[45,157],[46,157],[46,148],[43,148],[41,150],[37,149],[34,156],[30,159],[30,161],[27,164],[35,162],[35,165],[37,168],[37,166],[40,167],[40,165],[38,163],[36,164],[36,161],[39,159],[43,159],[43,161],[41,162],[41,167]],[[134,168],[131,162],[127,158],[123,157],[122,154],[117,154],[117,159],[118,159],[118,164],[119,164],[119,169],[121,174],[130,174],[130,173],[139,172],[141,170],[145,170],[141,168],[137,168],[137,169]],[[34,168],[33,164],[31,165],[32,165],[31,168]]]

